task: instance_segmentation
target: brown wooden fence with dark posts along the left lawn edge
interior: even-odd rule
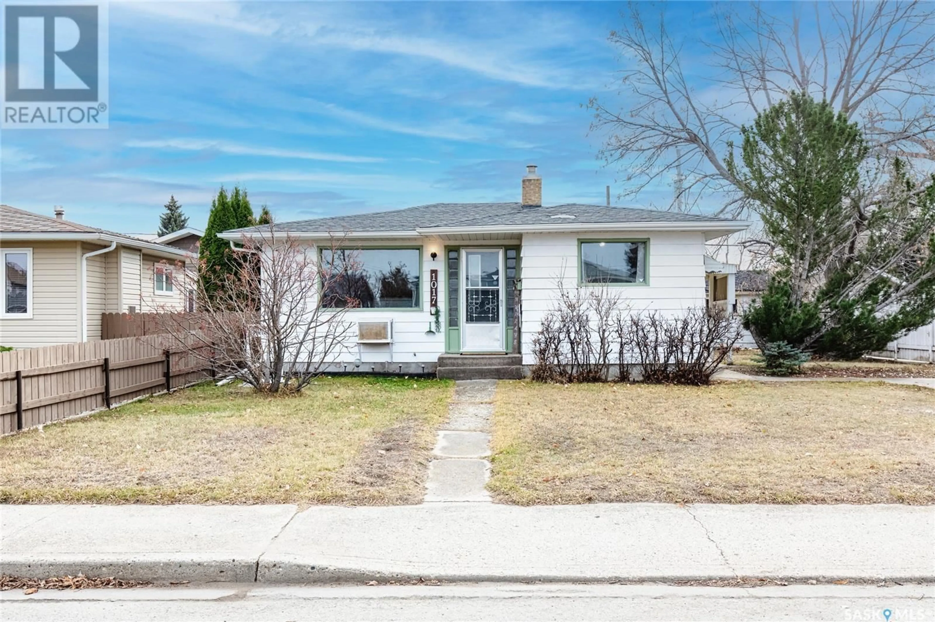
[[[0,353],[0,433],[110,407],[211,375],[167,335]]]

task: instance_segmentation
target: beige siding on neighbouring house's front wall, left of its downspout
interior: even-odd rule
[[[33,249],[33,317],[0,318],[0,346],[37,347],[79,340],[79,245],[18,242]]]

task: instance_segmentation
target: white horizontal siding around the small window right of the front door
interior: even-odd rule
[[[554,308],[558,285],[578,287],[580,239],[649,239],[648,284],[611,287],[632,311],[680,314],[705,304],[704,234],[693,232],[527,233],[523,236],[523,361],[535,362],[532,338]]]

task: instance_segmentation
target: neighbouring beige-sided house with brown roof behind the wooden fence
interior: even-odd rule
[[[101,338],[101,314],[184,310],[192,255],[122,233],[0,205],[0,346]]]

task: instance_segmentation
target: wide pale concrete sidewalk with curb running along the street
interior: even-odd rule
[[[935,507],[4,505],[0,573],[270,583],[935,581]]]

